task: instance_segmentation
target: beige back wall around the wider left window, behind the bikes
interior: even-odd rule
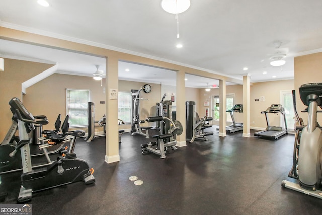
[[[100,104],[100,101],[105,101],[104,87],[104,79],[101,87],[101,81],[95,81],[92,77],[53,74],[27,88],[24,105],[33,115],[46,115],[49,124],[43,128],[53,129],[58,114],[61,114],[62,121],[66,116],[66,89],[86,89],[91,90],[91,101],[95,104],[95,120],[100,120],[105,114],[105,104]]]

